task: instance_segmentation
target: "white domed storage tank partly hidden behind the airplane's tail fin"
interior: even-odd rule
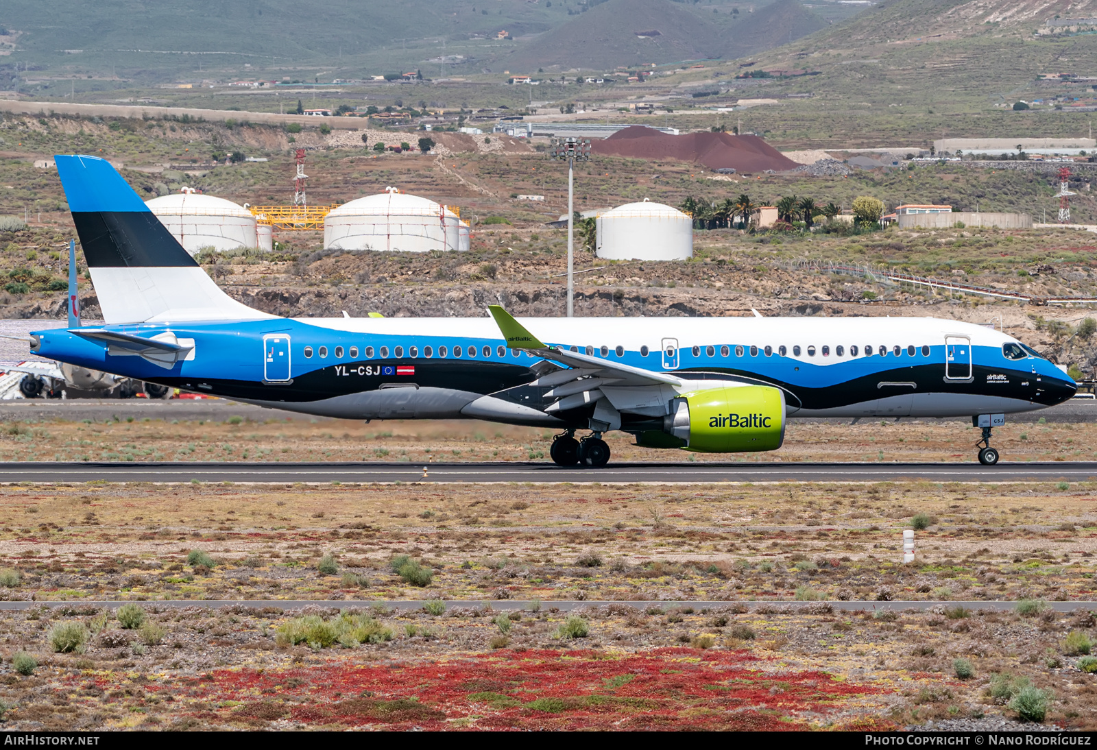
[[[256,217],[231,201],[183,188],[179,193],[145,203],[192,255],[208,247],[216,250],[259,247]]]

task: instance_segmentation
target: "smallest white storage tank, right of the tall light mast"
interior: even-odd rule
[[[595,219],[599,258],[686,260],[693,255],[693,219],[672,206],[626,203]]]

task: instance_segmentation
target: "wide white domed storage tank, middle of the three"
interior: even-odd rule
[[[324,218],[331,250],[467,250],[468,225],[433,201],[386,188],[344,203]]]

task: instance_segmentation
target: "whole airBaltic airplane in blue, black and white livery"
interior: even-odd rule
[[[222,292],[106,161],[56,164],[105,325],[34,333],[31,350],[172,388],[344,419],[555,428],[562,466],[603,466],[612,430],[733,453],[779,448],[790,417],[957,416],[983,428],[979,458],[995,464],[1006,413],[1075,393],[1016,339],[935,318],[280,318]]]

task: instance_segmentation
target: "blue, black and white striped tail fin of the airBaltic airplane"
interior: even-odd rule
[[[109,162],[56,163],[108,323],[273,317],[222,292]]]

